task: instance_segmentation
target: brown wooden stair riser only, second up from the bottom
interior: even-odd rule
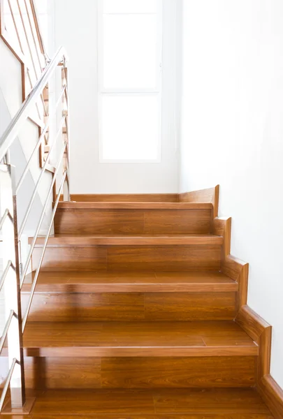
[[[22,307],[28,294],[22,295]],[[233,320],[235,293],[36,293],[29,321]]]

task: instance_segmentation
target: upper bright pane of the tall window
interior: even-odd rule
[[[105,15],[103,86],[120,89],[155,89],[157,87],[156,39],[155,15]]]

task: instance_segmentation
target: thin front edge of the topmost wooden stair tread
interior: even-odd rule
[[[60,202],[59,210],[210,210],[211,203]]]

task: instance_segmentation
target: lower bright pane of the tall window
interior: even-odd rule
[[[102,159],[157,160],[159,103],[156,95],[102,97]]]

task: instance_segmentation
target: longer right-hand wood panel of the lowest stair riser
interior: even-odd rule
[[[254,357],[102,358],[103,388],[222,388],[254,385]]]

